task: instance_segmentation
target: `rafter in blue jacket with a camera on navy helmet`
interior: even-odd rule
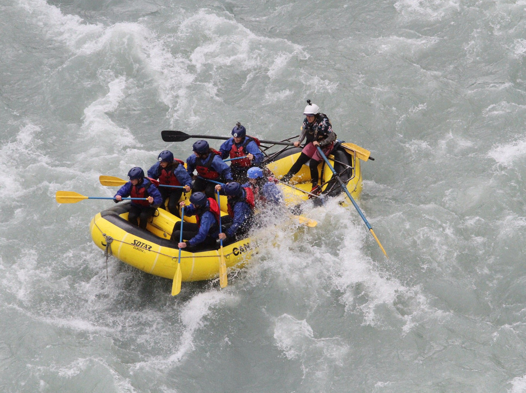
[[[252,137],[247,137],[247,129],[238,121],[236,127],[232,128],[232,138],[221,144],[219,151],[221,158],[226,159],[244,157],[239,160],[230,161],[232,177],[238,182],[247,180],[248,168],[258,165],[263,161],[263,153],[259,150],[258,143]]]

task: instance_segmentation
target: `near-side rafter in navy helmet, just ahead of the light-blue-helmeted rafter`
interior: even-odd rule
[[[216,185],[217,191],[221,189],[221,185]],[[230,242],[241,239],[254,223],[254,193],[249,187],[241,187],[237,181],[232,181],[225,185],[224,194],[227,195],[228,215],[232,224],[225,232],[219,233],[219,239]]]

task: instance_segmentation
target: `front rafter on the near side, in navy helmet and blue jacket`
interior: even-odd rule
[[[180,202],[181,208],[185,205],[184,201]],[[195,247],[203,245],[216,247],[219,235],[219,215],[221,214],[217,202],[213,198],[207,198],[203,192],[195,192],[190,195],[190,204],[185,206],[185,216],[195,215],[196,223],[183,223],[183,239],[189,239],[179,242],[180,223],[175,224],[171,240],[179,242],[177,247]],[[176,227],[178,227],[177,230]]]

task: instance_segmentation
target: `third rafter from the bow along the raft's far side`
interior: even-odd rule
[[[216,150],[210,149],[208,142],[198,140],[192,146],[194,154],[186,159],[186,171],[190,176],[193,176],[194,170],[197,174],[208,180],[214,180],[221,183],[233,181],[230,167],[221,160]],[[220,154],[220,153],[219,153]],[[208,198],[215,197],[215,184],[204,179],[195,179],[192,191],[201,191],[206,194]]]

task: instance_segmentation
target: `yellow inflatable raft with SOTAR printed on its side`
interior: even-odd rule
[[[301,149],[290,148],[281,152],[267,168],[277,179],[287,173],[299,156]],[[360,156],[348,148],[338,147],[328,156],[332,166],[353,198],[358,198],[362,189]],[[333,173],[325,162],[318,167],[322,185],[322,195],[337,196],[342,194],[341,185],[333,178]],[[290,186],[279,183],[287,205],[296,205],[308,199],[311,190],[310,172],[307,166],[290,180]],[[187,195],[188,198],[188,195]],[[154,217],[148,222],[146,230],[127,221],[129,202],[119,203],[106,209],[93,218],[89,228],[94,243],[104,250],[106,255],[113,255],[118,260],[149,274],[174,278],[178,265],[179,249],[177,243],[170,241],[174,226],[180,220],[164,209],[157,209]],[[221,207],[226,208],[226,200],[221,200]],[[193,218],[189,218],[194,221]],[[186,218],[185,218],[186,221]],[[242,239],[223,246],[226,265],[229,268],[240,268],[255,252],[250,238]],[[210,280],[219,275],[219,246],[217,249],[203,249],[189,252],[181,251],[181,280]]]

